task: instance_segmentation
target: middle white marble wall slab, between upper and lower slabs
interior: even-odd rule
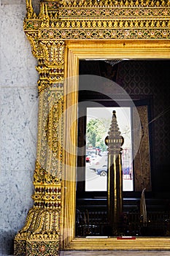
[[[34,88],[1,88],[1,170],[34,170],[38,96]]]

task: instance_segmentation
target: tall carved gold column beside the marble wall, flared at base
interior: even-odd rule
[[[47,5],[41,4],[36,17],[31,1],[26,1],[24,21],[32,53],[38,60],[39,128],[34,171],[34,206],[26,225],[15,236],[15,255],[58,255],[63,172],[63,77],[65,43],[41,37],[49,26]],[[32,29],[28,30],[32,22]]]

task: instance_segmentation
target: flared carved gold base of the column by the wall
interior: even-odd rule
[[[28,212],[26,225],[15,237],[15,255],[58,254],[60,211],[56,209],[32,208]]]

